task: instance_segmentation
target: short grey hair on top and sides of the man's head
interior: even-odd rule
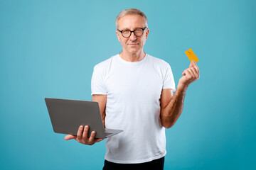
[[[129,8],[129,9],[124,9],[123,11],[121,11],[118,14],[118,16],[117,16],[117,18],[115,20],[117,28],[118,28],[119,19],[122,18],[123,16],[127,16],[127,15],[139,15],[139,16],[142,16],[143,20],[144,20],[144,25],[147,27],[146,15],[142,11],[137,9],[137,8]]]

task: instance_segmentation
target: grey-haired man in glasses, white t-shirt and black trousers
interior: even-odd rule
[[[181,115],[186,89],[199,78],[199,69],[191,62],[175,89],[169,64],[143,50],[149,35],[144,13],[124,10],[116,25],[122,52],[97,64],[92,74],[92,101],[99,103],[103,125],[124,130],[107,138],[103,169],[164,169],[165,128]],[[102,141],[95,132],[88,138],[88,128],[80,126],[77,136],[65,140]]]

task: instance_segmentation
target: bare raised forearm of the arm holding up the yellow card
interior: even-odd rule
[[[169,104],[161,109],[161,124],[164,128],[171,128],[181,115],[187,88],[188,86],[178,84]]]

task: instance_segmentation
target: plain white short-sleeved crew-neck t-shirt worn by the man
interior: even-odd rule
[[[114,55],[94,67],[92,94],[107,95],[105,126],[124,130],[107,138],[107,161],[134,164],[166,155],[160,120],[162,89],[175,91],[171,67],[147,54],[139,62]]]

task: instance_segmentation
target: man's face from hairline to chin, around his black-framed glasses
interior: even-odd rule
[[[142,16],[127,15],[119,19],[118,30],[135,30],[137,28],[145,28]],[[143,52],[143,46],[149,35],[149,29],[146,28],[143,35],[140,37],[132,33],[129,38],[124,38],[119,31],[116,30],[116,33],[119,42],[121,42],[123,52],[137,54]]]

